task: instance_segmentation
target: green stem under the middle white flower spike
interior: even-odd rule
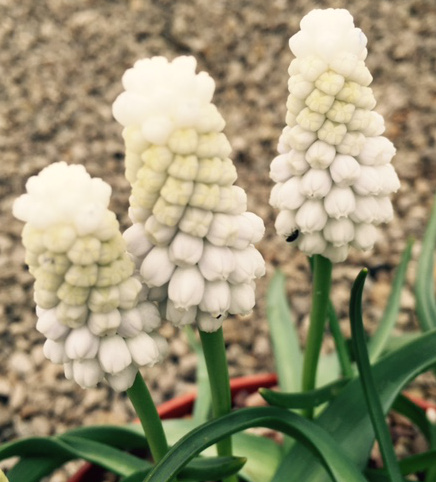
[[[223,329],[220,328],[212,333],[199,331],[201,343],[203,345],[204,358],[206,360],[207,373],[209,375],[213,416],[214,418],[218,418],[230,413],[232,408]],[[226,438],[217,442],[217,451],[220,456],[231,456],[231,438]],[[228,477],[224,482],[237,482],[237,478],[236,476]]]

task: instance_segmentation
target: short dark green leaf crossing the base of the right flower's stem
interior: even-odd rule
[[[337,380],[321,388],[308,392],[282,393],[268,388],[261,388],[259,393],[270,404],[283,408],[314,408],[337,397],[349,382],[349,379]]]

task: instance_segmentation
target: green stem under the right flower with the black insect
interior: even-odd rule
[[[303,360],[303,391],[313,390],[316,382],[316,370],[321,352],[327,307],[330,296],[332,263],[319,254],[313,257],[312,308],[310,312],[309,333]],[[313,408],[305,411],[308,418],[313,417]]]

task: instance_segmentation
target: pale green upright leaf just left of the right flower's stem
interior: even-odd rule
[[[266,303],[279,386],[284,392],[295,392],[301,388],[303,357],[286,299],[285,276],[279,270],[269,285]]]

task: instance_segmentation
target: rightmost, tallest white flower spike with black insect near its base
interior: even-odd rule
[[[393,216],[398,190],[393,144],[365,66],[366,37],[343,9],[313,10],[291,37],[290,95],[270,204],[276,230],[308,255],[343,261],[349,246],[371,249]]]

